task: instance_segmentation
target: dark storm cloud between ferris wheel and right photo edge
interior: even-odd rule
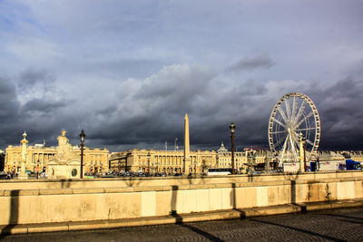
[[[321,149],[360,149],[363,137],[363,82],[346,77],[311,91],[321,120]]]

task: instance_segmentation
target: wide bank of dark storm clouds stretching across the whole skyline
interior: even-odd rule
[[[238,149],[248,145],[268,147],[270,111],[286,90],[303,92],[315,102],[322,126],[321,149],[359,149],[363,136],[363,84],[353,77],[328,87],[296,82],[275,92],[275,87],[284,86],[283,82],[231,83],[209,69],[172,65],[145,80],[120,83],[121,90],[128,89],[120,93],[118,88],[113,90],[120,94],[118,102],[100,106],[90,103],[83,112],[79,112],[78,102],[64,100],[31,99],[20,105],[14,84],[4,78],[1,81],[2,98],[12,101],[5,102],[8,106],[3,106],[3,112],[10,113],[9,123],[17,122],[7,125],[7,129],[18,132],[19,139],[26,130],[31,143],[48,140],[48,144],[56,144],[56,137],[64,129],[76,144],[80,130],[85,129],[89,146],[105,146],[114,151],[134,147],[162,149],[165,140],[172,146],[174,139],[179,138],[182,149],[183,119],[188,112],[192,149],[215,150],[221,141],[229,147],[231,121],[237,126]],[[84,120],[91,125],[79,126],[78,122]],[[19,140],[14,139],[13,135],[13,144]]]

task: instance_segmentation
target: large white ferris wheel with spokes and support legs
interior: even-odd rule
[[[314,102],[305,94],[291,92],[275,104],[269,121],[270,150],[283,160],[299,160],[299,139],[306,139],[306,160],[316,154],[320,141],[320,119]]]

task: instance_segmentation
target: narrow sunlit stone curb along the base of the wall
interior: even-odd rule
[[[64,222],[46,224],[25,224],[0,226],[0,234],[26,234],[36,232],[71,231],[113,227],[136,227],[146,225],[175,224],[197,221],[221,220],[232,218],[250,218],[287,213],[308,212],[313,210],[363,207],[363,199],[335,200],[325,202],[310,202],[302,204],[287,204],[262,208],[243,208],[217,210],[205,213],[175,214],[162,217],[124,218],[116,220],[95,220],[83,222]]]

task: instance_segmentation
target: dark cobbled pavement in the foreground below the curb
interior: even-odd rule
[[[1,238],[3,241],[363,241],[363,208]]]

